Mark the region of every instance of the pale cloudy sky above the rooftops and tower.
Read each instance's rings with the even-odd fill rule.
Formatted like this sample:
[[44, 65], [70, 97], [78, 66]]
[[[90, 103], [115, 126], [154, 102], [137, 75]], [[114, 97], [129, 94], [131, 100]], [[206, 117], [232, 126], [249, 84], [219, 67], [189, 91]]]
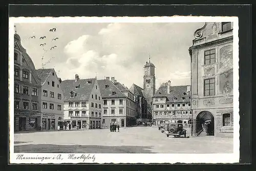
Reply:
[[[49, 23], [15, 24], [22, 46], [36, 69], [54, 68], [62, 80], [115, 79], [130, 88], [143, 88], [143, 66], [156, 66], [156, 88], [161, 82], [173, 86], [190, 84], [190, 57], [194, 32], [204, 23]], [[50, 32], [52, 28], [55, 32]], [[29, 38], [30, 36], [36, 38]], [[46, 36], [44, 39], [39, 39]], [[53, 38], [58, 37], [56, 40]], [[42, 47], [40, 44], [46, 43]], [[51, 47], [57, 46], [50, 50]], [[45, 48], [47, 52], [43, 50]], [[42, 60], [42, 56], [44, 59]], [[97, 74], [96, 74], [97, 73]]]

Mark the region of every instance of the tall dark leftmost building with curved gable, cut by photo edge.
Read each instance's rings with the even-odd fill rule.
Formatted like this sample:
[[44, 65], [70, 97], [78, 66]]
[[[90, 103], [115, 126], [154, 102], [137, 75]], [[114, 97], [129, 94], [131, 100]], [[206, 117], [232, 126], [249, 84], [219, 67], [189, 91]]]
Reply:
[[35, 66], [14, 34], [14, 131], [39, 130], [41, 83]]

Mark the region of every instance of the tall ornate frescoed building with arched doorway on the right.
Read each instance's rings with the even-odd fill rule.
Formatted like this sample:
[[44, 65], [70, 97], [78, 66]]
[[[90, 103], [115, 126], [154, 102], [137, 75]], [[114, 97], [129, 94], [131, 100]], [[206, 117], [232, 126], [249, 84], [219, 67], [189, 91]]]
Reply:
[[193, 135], [232, 137], [232, 23], [205, 23], [194, 36], [189, 48]]

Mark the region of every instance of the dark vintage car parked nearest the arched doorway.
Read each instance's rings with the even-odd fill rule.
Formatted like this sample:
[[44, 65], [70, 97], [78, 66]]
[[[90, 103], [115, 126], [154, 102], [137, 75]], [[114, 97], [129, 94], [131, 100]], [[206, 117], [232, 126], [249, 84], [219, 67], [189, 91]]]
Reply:
[[181, 137], [181, 135], [184, 135], [184, 137], [186, 137], [186, 130], [183, 129], [182, 123], [168, 123], [165, 127], [165, 134], [167, 137], [170, 135], [173, 135], [174, 137]]

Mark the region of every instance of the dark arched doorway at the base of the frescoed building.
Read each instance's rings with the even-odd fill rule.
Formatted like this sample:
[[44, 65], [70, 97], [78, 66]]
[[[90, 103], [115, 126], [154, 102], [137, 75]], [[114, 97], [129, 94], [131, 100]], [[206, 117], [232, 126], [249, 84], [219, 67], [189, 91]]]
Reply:
[[197, 115], [197, 132], [205, 130], [209, 136], [214, 136], [214, 115], [209, 111], [202, 111]]

